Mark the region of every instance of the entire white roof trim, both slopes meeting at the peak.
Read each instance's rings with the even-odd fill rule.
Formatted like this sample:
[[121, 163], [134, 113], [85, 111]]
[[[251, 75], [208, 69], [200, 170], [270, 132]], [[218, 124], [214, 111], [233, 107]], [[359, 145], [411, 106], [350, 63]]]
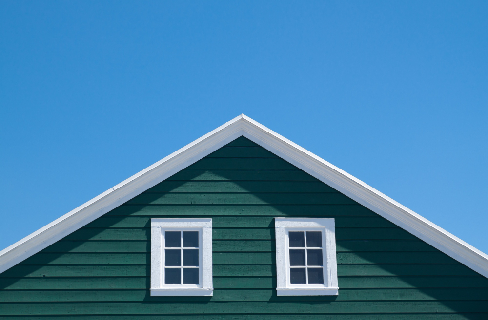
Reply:
[[0, 251], [0, 273], [244, 136], [488, 278], [488, 255], [244, 114]]

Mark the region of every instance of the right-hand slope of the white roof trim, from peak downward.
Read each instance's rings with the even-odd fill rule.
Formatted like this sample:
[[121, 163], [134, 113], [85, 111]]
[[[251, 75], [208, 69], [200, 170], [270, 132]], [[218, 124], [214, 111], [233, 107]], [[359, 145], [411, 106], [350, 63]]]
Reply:
[[349, 173], [244, 116], [244, 136], [488, 278], [488, 255]]

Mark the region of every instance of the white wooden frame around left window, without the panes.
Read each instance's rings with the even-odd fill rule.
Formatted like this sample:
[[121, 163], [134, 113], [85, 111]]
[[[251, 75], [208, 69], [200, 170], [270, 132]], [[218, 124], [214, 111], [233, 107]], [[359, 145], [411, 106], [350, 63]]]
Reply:
[[[198, 231], [199, 283], [164, 284], [164, 232]], [[151, 218], [151, 296], [211, 296], [212, 218]]]

